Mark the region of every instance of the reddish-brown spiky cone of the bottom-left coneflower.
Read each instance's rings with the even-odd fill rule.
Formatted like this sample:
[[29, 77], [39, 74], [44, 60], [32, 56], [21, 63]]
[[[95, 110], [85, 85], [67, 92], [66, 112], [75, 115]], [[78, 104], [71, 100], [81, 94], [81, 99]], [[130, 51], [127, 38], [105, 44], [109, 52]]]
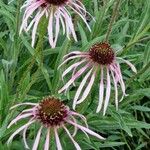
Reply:
[[60, 126], [68, 116], [68, 107], [59, 99], [47, 97], [40, 102], [37, 116], [45, 126]]

